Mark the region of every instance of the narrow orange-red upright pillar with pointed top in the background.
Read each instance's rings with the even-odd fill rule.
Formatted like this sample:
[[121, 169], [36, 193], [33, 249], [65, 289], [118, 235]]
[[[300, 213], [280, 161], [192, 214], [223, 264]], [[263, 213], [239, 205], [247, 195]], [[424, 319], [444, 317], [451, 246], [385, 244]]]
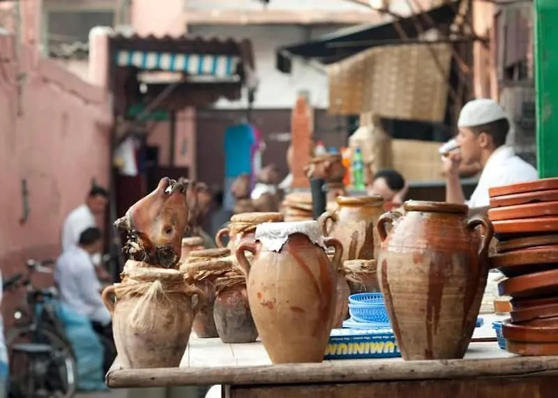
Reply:
[[292, 187], [308, 188], [310, 181], [304, 174], [304, 167], [310, 162], [312, 132], [314, 130], [314, 109], [308, 100], [308, 93], [299, 93], [291, 113], [292, 145]]

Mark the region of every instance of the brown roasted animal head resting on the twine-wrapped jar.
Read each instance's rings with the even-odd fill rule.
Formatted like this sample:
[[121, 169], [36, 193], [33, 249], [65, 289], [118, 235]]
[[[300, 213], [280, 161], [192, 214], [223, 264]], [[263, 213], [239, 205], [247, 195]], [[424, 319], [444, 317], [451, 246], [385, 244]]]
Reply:
[[153, 192], [116, 220], [115, 227], [128, 234], [124, 254], [152, 266], [176, 266], [188, 223], [186, 197], [192, 186], [186, 180], [162, 178]]

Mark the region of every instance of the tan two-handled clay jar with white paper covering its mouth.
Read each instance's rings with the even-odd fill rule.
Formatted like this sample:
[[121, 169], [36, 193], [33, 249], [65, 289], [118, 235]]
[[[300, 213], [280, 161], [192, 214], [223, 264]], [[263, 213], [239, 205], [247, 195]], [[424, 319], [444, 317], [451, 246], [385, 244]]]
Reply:
[[[341, 243], [324, 238], [315, 221], [260, 224], [255, 239], [243, 241], [236, 257], [271, 362], [322, 362], [335, 311]], [[333, 261], [326, 247], [335, 248]], [[251, 266], [245, 251], [255, 254]]]

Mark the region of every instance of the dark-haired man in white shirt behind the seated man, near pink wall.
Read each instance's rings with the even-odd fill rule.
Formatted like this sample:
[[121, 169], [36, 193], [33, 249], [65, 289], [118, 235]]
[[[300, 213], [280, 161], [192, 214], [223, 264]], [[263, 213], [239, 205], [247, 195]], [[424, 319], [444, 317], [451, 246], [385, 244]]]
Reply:
[[62, 229], [62, 251], [77, 246], [80, 235], [88, 228], [97, 227], [95, 217], [103, 215], [107, 208], [109, 194], [103, 187], [92, 187], [85, 203], [75, 208], [64, 221]]

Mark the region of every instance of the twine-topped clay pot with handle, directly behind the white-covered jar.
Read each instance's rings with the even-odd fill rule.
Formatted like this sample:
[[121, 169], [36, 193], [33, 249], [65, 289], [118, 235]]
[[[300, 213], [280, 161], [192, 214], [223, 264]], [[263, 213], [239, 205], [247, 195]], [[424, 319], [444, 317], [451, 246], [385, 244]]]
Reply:
[[218, 247], [225, 247], [223, 244], [223, 236], [229, 236], [229, 244], [227, 248], [234, 251], [243, 239], [253, 239], [256, 232], [257, 224], [262, 222], [281, 222], [283, 220], [282, 213], [239, 213], [231, 217], [228, 228], [220, 229], [216, 236], [215, 242]]

